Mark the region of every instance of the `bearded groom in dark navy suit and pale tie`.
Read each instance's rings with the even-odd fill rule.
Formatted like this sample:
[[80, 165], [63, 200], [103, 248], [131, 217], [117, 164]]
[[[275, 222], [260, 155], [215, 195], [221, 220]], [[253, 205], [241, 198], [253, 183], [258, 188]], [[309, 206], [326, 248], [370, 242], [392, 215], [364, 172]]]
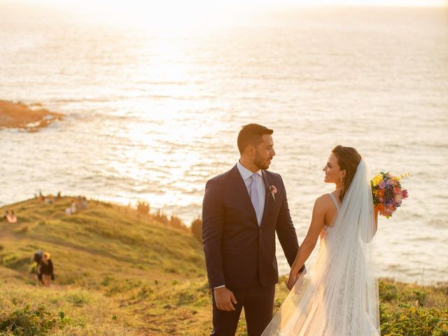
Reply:
[[299, 249], [281, 176], [266, 170], [275, 155], [273, 132], [257, 124], [242, 127], [239, 162], [205, 186], [202, 242], [214, 336], [235, 335], [243, 307], [248, 335], [261, 335], [279, 281], [275, 232], [289, 265]]

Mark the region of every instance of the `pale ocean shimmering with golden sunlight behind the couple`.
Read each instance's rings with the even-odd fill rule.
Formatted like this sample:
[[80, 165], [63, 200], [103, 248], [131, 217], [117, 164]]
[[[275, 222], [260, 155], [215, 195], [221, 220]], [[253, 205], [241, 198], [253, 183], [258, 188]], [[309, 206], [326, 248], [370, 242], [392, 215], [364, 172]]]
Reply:
[[372, 175], [412, 173], [409, 198], [380, 219], [379, 275], [448, 281], [447, 8], [266, 8], [178, 26], [0, 13], [0, 99], [66, 115], [0, 130], [1, 205], [38, 190], [146, 200], [189, 225], [207, 179], [237, 162], [241, 125], [260, 123], [299, 241], [332, 190], [331, 149], [353, 146]]

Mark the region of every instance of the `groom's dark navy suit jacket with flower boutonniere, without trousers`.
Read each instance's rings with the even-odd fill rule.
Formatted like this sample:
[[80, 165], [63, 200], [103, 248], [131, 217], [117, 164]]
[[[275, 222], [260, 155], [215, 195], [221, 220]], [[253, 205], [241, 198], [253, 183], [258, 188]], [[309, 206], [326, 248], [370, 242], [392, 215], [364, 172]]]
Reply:
[[[289, 265], [299, 249], [286, 190], [279, 174], [262, 171], [266, 186], [260, 227], [237, 166], [207, 181], [202, 204], [202, 244], [211, 288], [247, 288], [258, 274], [262, 286], [279, 281], [275, 232]], [[269, 186], [277, 193], [272, 197]]]

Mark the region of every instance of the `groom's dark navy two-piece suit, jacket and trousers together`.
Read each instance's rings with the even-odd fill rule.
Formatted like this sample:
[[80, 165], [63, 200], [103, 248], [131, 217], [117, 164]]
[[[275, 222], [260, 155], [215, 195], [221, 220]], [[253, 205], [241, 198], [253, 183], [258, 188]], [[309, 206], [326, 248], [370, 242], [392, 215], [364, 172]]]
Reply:
[[[260, 226], [237, 166], [207, 181], [202, 207], [202, 243], [211, 288], [225, 285], [238, 304], [221, 311], [214, 301], [211, 335], [235, 335], [244, 307], [248, 334], [260, 335], [272, 318], [274, 285], [279, 281], [275, 232], [289, 265], [299, 249], [283, 180], [262, 171], [265, 208]], [[272, 197], [269, 186], [277, 193]], [[212, 290], [213, 293], [213, 290]]]

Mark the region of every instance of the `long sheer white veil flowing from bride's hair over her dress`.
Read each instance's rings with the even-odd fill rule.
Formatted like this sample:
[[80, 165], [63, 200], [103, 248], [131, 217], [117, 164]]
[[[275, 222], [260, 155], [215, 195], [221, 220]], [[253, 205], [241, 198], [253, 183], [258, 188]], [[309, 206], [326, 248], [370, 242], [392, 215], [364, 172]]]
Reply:
[[262, 336], [380, 335], [375, 232], [370, 177], [361, 160], [315, 265], [295, 283]]

